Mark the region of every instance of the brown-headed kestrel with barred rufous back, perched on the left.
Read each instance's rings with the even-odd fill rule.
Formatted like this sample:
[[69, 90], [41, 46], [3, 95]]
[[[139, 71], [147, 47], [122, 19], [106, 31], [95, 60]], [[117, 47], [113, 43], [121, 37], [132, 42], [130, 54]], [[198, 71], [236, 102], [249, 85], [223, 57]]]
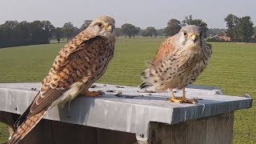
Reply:
[[88, 89], [105, 73], [113, 58], [114, 24], [113, 18], [101, 16], [63, 46], [42, 80], [40, 91], [15, 122], [18, 129], [11, 136], [10, 144], [22, 140], [52, 107], [63, 107], [78, 94], [93, 97], [102, 94]]

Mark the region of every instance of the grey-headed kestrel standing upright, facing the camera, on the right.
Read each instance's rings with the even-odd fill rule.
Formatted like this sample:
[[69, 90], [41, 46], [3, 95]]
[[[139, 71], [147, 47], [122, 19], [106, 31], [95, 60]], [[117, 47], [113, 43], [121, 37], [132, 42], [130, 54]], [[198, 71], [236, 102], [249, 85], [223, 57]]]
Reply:
[[[204, 42], [202, 28], [188, 25], [174, 36], [162, 42], [154, 61], [142, 72], [142, 89], [171, 92], [170, 102], [196, 103], [196, 99], [186, 99], [185, 87], [194, 82], [206, 69], [212, 54], [211, 46]], [[182, 89], [182, 97], [175, 98], [173, 89]]]

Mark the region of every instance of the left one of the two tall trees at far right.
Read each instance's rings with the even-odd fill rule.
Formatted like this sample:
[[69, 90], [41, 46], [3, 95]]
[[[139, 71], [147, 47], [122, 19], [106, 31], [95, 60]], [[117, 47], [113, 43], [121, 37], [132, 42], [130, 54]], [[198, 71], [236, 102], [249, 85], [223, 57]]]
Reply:
[[227, 27], [227, 35], [231, 38], [231, 41], [235, 41], [238, 38], [238, 22], [239, 18], [234, 14], [229, 14], [224, 18]]

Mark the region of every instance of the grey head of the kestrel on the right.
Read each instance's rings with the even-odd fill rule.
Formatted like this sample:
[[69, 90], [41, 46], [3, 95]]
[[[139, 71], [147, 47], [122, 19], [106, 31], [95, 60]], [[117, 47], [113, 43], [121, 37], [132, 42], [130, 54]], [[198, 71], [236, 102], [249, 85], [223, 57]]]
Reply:
[[178, 32], [178, 45], [189, 49], [202, 47], [202, 28], [194, 25], [183, 26]]

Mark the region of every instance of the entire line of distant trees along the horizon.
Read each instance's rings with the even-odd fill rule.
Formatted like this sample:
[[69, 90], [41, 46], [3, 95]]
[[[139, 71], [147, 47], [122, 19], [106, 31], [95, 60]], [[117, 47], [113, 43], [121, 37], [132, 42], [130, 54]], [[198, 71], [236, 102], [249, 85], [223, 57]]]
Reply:
[[[250, 16], [238, 18], [234, 14], [229, 14], [224, 18], [227, 29], [224, 30], [227, 36], [234, 42], [248, 42], [249, 39], [256, 33], [256, 27], [251, 22]], [[50, 21], [34, 21], [34, 22], [18, 22], [6, 21], [0, 25], [0, 48], [10, 46], [24, 46], [34, 44], [47, 44], [51, 39], [56, 39], [58, 42], [61, 38], [66, 38], [69, 41], [75, 35], [85, 30], [90, 25], [92, 20], [85, 20], [79, 28], [74, 26], [72, 22], [66, 22], [62, 27], [55, 27]], [[142, 30], [140, 27], [130, 23], [123, 24], [120, 28], [116, 28], [115, 34], [124, 36], [125, 38], [135, 38], [140, 35], [146, 38], [155, 38], [157, 36], [172, 36], [177, 34], [182, 26], [197, 25], [201, 26], [204, 37], [210, 34], [218, 34], [223, 29], [208, 29], [207, 23], [202, 19], [194, 19], [192, 15], [186, 16], [182, 21], [171, 18], [167, 22], [167, 26], [163, 29], [156, 30], [153, 26]], [[255, 34], [256, 35], [256, 34]]]

